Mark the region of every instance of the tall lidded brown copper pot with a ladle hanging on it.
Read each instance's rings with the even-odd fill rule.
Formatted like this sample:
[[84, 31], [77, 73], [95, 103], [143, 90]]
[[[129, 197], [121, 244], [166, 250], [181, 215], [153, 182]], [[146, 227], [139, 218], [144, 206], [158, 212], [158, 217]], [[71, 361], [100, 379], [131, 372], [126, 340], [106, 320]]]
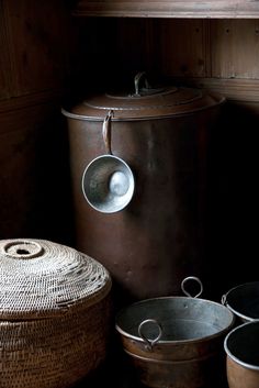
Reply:
[[[93, 96], [63, 109], [77, 248], [110, 270], [123, 301], [174, 295], [188, 274], [203, 275], [207, 142], [224, 102], [199, 89], [140, 88], [142, 76], [133, 93]], [[108, 115], [113, 155], [135, 178], [131, 202], [109, 214], [89, 206], [81, 189], [86, 167], [106, 154]]]

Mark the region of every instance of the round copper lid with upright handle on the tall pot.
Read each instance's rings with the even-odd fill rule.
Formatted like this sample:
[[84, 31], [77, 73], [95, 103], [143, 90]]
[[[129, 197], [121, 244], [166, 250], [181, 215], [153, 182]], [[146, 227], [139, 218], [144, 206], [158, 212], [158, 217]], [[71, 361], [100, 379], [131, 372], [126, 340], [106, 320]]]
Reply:
[[133, 93], [103, 93], [92, 96], [74, 107], [70, 112], [63, 110], [67, 117], [81, 120], [103, 120], [113, 111], [113, 120], [145, 120], [170, 118], [177, 114], [190, 114], [222, 103], [221, 96], [209, 95], [203, 90], [187, 87], [151, 88], [146, 78], [144, 87], [140, 80], [145, 73], [134, 79]]

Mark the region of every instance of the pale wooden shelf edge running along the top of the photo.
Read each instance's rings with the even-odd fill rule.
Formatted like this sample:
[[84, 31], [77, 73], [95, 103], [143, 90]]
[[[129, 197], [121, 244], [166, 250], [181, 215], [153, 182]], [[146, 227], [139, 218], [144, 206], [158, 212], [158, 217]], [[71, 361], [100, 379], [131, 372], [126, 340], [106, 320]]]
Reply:
[[132, 18], [259, 18], [255, 0], [173, 0], [173, 1], [79, 1], [76, 16]]

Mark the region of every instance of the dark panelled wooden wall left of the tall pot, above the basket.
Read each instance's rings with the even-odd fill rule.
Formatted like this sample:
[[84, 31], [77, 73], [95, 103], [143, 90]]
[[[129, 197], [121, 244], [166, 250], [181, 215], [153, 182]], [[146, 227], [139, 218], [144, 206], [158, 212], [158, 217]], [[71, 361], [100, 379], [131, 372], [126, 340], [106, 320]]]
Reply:
[[60, 113], [76, 71], [77, 25], [69, 4], [0, 0], [1, 239], [71, 241], [67, 128]]

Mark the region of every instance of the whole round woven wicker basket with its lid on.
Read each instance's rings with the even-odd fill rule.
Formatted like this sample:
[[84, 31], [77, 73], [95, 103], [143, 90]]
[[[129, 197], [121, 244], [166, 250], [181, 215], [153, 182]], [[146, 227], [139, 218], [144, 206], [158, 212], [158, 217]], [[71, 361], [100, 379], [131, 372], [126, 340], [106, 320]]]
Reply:
[[0, 241], [0, 388], [65, 388], [104, 361], [111, 277], [45, 240]]

